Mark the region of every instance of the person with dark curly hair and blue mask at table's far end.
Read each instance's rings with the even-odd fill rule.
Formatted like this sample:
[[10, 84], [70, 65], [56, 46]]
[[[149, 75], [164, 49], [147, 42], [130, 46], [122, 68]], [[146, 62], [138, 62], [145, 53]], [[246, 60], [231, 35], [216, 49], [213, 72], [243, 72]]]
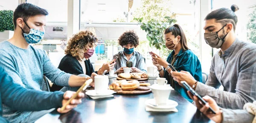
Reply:
[[126, 62], [132, 62], [132, 73], [146, 73], [145, 60], [142, 54], [134, 51], [134, 48], [140, 44], [137, 34], [134, 31], [126, 31], [119, 37], [118, 42], [124, 50], [119, 51], [113, 56], [113, 59], [118, 56], [115, 67], [113, 68], [115, 73], [123, 73], [123, 67], [126, 67]]

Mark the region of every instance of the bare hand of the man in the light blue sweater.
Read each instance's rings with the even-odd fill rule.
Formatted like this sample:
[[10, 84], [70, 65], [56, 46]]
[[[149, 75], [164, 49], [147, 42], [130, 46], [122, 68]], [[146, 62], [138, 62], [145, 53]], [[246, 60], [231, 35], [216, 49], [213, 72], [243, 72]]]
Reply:
[[68, 81], [70, 87], [80, 87], [84, 84], [86, 77], [71, 75]]

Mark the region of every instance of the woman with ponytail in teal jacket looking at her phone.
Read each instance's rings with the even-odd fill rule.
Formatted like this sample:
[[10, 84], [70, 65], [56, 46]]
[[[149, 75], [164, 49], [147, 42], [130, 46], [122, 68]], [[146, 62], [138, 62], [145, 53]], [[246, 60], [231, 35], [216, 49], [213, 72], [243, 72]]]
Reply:
[[[152, 53], [153, 64], [157, 67], [161, 77], [166, 78], [168, 84], [179, 92], [184, 98], [192, 102], [189, 95], [186, 93], [186, 89], [180, 86], [171, 76], [171, 69], [168, 64], [172, 64], [177, 71], [185, 70], [197, 80], [202, 81], [202, 69], [201, 63], [195, 54], [189, 50], [186, 42], [186, 36], [180, 27], [180, 25], [173, 25], [166, 28], [164, 38], [166, 39], [166, 47], [172, 50], [172, 53], [168, 56], [167, 60], [161, 58], [155, 53]], [[162, 69], [162, 66], [164, 69]]]

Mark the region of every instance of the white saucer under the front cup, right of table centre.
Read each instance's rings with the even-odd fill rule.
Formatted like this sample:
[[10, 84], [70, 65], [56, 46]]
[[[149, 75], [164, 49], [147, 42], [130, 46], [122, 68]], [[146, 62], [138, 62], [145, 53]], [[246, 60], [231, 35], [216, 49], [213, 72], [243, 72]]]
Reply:
[[155, 105], [154, 99], [148, 99], [145, 101], [145, 105], [155, 108], [155, 109], [171, 109], [171, 108], [175, 108], [176, 106], [178, 106], [178, 103], [173, 100], [167, 100], [166, 105], [154, 106]]

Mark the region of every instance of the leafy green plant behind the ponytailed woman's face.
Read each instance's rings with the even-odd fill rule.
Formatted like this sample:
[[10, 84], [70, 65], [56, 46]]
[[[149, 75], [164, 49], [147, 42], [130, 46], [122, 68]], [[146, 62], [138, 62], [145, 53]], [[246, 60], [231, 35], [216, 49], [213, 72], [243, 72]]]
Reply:
[[[172, 16], [175, 17], [175, 14], [173, 13]], [[163, 21], [151, 19], [145, 23], [142, 22], [143, 17], [134, 18], [134, 20], [137, 20], [139, 24], [142, 24], [140, 28], [142, 30], [145, 30], [145, 32], [147, 33], [149, 46], [155, 47], [157, 49], [166, 48], [163, 31], [173, 23], [177, 22], [175, 18], [168, 16], [164, 17]]]

